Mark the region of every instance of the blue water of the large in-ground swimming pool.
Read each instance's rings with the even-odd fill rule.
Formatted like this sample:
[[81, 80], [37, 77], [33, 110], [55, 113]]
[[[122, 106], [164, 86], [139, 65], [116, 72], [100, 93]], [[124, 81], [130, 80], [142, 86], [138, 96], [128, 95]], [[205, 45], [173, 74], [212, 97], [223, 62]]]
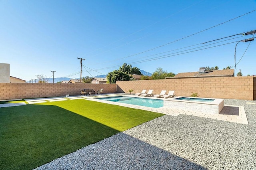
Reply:
[[154, 108], [159, 108], [164, 106], [163, 100], [144, 99], [144, 98], [142, 99], [138, 97], [124, 97], [124, 96], [104, 97], [104, 98], [100, 98], [100, 100], [114, 101], [118, 103], [126, 103], [131, 105], [139, 105], [139, 106], [154, 107]]

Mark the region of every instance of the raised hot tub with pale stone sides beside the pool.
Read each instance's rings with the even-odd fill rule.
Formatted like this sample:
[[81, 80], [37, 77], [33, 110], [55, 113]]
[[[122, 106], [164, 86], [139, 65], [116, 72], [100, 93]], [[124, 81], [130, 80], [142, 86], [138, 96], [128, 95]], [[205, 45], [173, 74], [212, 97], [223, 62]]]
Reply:
[[164, 107], [219, 114], [224, 107], [224, 99], [174, 97], [164, 100]]

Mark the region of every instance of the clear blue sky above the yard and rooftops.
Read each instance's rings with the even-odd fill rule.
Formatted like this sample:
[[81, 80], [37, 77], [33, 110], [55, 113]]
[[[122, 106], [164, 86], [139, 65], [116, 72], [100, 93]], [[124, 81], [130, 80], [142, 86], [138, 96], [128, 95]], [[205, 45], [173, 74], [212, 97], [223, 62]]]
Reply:
[[[123, 63], [150, 73], [234, 68], [236, 42], [253, 35], [232, 35], [256, 30], [253, 10], [256, 0], [0, 0], [0, 63], [26, 81], [51, 78], [51, 70], [54, 77], [78, 78], [78, 57], [85, 59], [82, 77]], [[249, 43], [238, 43], [237, 62]], [[194, 51], [206, 47], [212, 48]], [[256, 75], [256, 40], [236, 68], [235, 75], [240, 69]]]

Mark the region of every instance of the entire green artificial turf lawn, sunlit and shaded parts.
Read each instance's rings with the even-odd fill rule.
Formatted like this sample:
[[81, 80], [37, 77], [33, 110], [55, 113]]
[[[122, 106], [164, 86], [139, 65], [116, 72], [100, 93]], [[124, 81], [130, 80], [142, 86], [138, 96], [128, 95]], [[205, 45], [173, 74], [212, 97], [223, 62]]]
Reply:
[[0, 169], [33, 169], [162, 115], [83, 99], [0, 108]]

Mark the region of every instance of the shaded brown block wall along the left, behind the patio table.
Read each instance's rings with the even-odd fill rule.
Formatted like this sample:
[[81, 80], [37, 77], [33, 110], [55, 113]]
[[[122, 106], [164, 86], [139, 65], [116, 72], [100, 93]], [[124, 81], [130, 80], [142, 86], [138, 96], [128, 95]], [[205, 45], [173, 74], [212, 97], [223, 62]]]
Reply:
[[116, 93], [116, 84], [0, 83], [0, 100], [80, 95], [79, 89]]

